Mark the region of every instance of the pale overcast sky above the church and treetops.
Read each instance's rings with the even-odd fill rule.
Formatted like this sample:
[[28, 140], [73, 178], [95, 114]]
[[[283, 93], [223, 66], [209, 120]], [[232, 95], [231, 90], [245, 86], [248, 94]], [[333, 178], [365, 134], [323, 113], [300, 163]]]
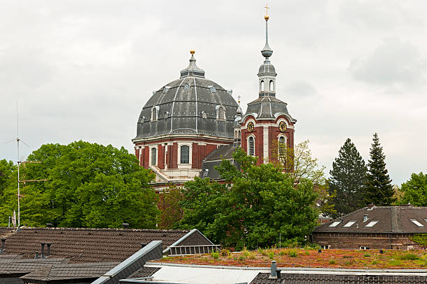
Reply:
[[[133, 152], [153, 90], [179, 78], [189, 50], [206, 77], [257, 97], [264, 1], [0, 0], [0, 159], [20, 137]], [[373, 133], [394, 184], [427, 172], [427, 1], [270, 0], [277, 97], [295, 139], [331, 168], [345, 139], [365, 161]]]

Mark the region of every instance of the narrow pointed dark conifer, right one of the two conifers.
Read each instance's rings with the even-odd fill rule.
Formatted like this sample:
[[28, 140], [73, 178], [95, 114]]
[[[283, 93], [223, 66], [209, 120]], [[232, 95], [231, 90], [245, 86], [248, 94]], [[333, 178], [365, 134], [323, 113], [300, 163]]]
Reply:
[[377, 206], [394, 203], [394, 189], [386, 168], [385, 155], [382, 152], [378, 134], [373, 135], [370, 148], [370, 160], [365, 183], [365, 204]]

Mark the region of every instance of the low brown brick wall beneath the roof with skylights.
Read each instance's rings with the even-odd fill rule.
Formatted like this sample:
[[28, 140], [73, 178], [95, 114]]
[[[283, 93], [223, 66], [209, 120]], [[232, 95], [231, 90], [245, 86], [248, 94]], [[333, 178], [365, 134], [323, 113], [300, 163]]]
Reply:
[[388, 233], [350, 233], [350, 232], [314, 232], [313, 242], [330, 248], [359, 249], [361, 246], [370, 249], [422, 249], [410, 240], [411, 234]]

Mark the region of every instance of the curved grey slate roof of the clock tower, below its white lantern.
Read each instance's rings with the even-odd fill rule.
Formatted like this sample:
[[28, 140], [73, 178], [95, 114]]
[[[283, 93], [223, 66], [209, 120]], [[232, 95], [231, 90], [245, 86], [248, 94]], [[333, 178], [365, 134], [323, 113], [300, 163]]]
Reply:
[[276, 97], [258, 97], [257, 100], [248, 103], [245, 116], [255, 113], [257, 119], [276, 119], [280, 114], [284, 114], [292, 123], [296, 123], [297, 120], [290, 116], [286, 106], [287, 103]]

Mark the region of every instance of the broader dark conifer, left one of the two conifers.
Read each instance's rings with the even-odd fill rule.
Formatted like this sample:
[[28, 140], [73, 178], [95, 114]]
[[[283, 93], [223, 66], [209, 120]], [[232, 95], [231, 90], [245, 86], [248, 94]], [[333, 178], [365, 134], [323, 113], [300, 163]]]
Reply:
[[329, 192], [334, 194], [332, 202], [340, 216], [364, 206], [364, 184], [366, 182], [365, 161], [350, 139], [338, 151], [338, 157], [329, 171]]

